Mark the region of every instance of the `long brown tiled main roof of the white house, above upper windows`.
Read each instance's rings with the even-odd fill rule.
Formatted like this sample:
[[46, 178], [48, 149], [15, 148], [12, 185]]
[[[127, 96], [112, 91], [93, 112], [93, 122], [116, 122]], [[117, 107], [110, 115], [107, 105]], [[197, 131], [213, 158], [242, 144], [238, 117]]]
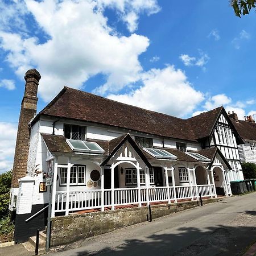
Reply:
[[[71, 118], [122, 127], [161, 137], [196, 141], [210, 135], [221, 110], [222, 107], [196, 117], [181, 119], [65, 86], [46, 108], [38, 114], [37, 118], [40, 115]], [[36, 118], [32, 122], [35, 121]]]

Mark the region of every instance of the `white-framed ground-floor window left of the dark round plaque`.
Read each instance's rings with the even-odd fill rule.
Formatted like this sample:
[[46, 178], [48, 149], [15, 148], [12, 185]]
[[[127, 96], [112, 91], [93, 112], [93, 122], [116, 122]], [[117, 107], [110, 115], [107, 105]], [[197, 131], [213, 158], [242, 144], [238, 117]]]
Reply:
[[[68, 168], [60, 168], [60, 185], [67, 185]], [[85, 166], [72, 166], [70, 185], [85, 185]]]

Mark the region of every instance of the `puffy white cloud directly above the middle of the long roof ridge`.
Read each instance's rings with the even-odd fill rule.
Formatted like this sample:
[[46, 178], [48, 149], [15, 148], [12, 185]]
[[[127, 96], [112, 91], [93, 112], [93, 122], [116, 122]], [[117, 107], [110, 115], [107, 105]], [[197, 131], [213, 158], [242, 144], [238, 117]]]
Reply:
[[151, 69], [142, 76], [143, 85], [131, 93], [108, 98], [177, 117], [185, 117], [203, 100], [203, 93], [195, 90], [184, 72], [168, 66]]

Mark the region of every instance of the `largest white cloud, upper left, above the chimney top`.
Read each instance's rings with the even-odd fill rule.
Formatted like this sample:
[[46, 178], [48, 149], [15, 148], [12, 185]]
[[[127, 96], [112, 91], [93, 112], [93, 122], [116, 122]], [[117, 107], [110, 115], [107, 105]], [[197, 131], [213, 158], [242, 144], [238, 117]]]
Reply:
[[138, 56], [146, 51], [149, 40], [137, 34], [118, 35], [108, 26], [100, 5], [113, 5], [120, 11], [129, 5], [129, 10], [134, 8], [137, 13], [145, 8], [148, 14], [154, 13], [155, 1], [146, 1], [145, 8], [143, 3], [26, 0], [28, 11], [48, 39], [40, 43], [35, 35], [0, 31], [0, 46], [8, 53], [6, 60], [20, 78], [27, 69], [38, 69], [42, 75], [39, 94], [46, 101], [64, 85], [81, 88], [89, 77], [98, 73], [106, 75], [106, 83], [96, 92], [117, 92], [140, 78], [142, 67]]

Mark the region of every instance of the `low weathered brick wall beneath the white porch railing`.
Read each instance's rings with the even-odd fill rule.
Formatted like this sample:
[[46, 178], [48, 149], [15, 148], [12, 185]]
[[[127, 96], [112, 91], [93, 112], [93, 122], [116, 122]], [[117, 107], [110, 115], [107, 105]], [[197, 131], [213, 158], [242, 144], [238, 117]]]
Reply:
[[[204, 204], [218, 199], [203, 200]], [[177, 204], [152, 205], [152, 219], [181, 210], [197, 207], [197, 201]], [[147, 221], [148, 207], [109, 210], [52, 218], [51, 247], [111, 232], [124, 226]]]

